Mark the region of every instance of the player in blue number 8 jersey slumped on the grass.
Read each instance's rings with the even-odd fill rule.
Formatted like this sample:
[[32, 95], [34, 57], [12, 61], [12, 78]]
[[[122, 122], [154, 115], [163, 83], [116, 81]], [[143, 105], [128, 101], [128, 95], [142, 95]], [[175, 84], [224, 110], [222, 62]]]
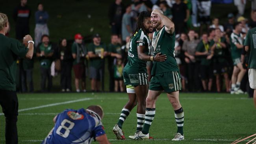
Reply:
[[42, 144], [90, 144], [97, 140], [100, 144], [110, 144], [103, 129], [102, 108], [91, 105], [87, 109], [67, 109], [53, 119], [54, 128]]

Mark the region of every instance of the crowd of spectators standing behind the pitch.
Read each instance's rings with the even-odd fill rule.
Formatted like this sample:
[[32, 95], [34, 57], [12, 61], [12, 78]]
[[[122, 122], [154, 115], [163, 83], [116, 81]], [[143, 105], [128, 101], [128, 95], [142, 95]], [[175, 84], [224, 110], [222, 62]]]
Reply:
[[[245, 0], [238, 1], [245, 4]], [[28, 21], [32, 12], [26, 6], [26, 2], [27, 0], [21, 0], [13, 14], [16, 22], [16, 38], [19, 40], [30, 33]], [[104, 64], [108, 61], [109, 90], [107, 91], [123, 92], [125, 89], [122, 68], [127, 62], [130, 36], [134, 31], [137, 17], [141, 11], [152, 11], [158, 8], [175, 24], [175, 54], [182, 75], [183, 91], [230, 92], [234, 85], [239, 85], [239, 89], [245, 92], [247, 91], [244, 87], [246, 80], [238, 78], [240, 82], [231, 82], [233, 77], [240, 74], [233, 71], [232, 46], [236, 46], [237, 37], [232, 36], [232, 33], [241, 35], [239, 39], [243, 41], [249, 28], [256, 26], [256, 11], [252, 6], [251, 17], [247, 19], [243, 17], [244, 7], [236, 1], [235, 5], [239, 13], [237, 15], [229, 13], [226, 23], [220, 23], [219, 18], [210, 17], [210, 0], [132, 0], [131, 4], [126, 6], [122, 4], [122, 0], [115, 0], [109, 6], [111, 36], [107, 45], [101, 41], [99, 33], [93, 35], [92, 42], [89, 44], [84, 43], [80, 33], [74, 36], [72, 43], [68, 43], [65, 38], [58, 44], [51, 42], [47, 27], [49, 15], [40, 3], [35, 13], [36, 57], [34, 59], [40, 61], [41, 91], [47, 92], [52, 89], [52, 78], [58, 72], [61, 74], [61, 91], [72, 91], [72, 70], [75, 75], [76, 92], [86, 92], [85, 78], [91, 80], [92, 91], [104, 91], [106, 90], [104, 89], [106, 73]], [[203, 28], [204, 25], [206, 29]], [[240, 40], [237, 41], [240, 42]], [[239, 44], [243, 45], [243, 42]], [[246, 53], [243, 52], [241, 55], [243, 67], [237, 71], [243, 71], [246, 74]], [[22, 92], [33, 92], [34, 59], [20, 60]], [[243, 78], [245, 79], [245, 76]], [[240, 84], [243, 81], [246, 81], [245, 84]], [[29, 89], [26, 86], [27, 82]]]

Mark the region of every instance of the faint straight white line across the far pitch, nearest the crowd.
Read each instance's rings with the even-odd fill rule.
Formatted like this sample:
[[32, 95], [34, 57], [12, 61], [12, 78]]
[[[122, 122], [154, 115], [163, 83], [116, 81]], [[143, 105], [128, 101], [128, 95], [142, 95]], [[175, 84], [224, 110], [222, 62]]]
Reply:
[[[80, 98], [19, 98], [19, 100], [76, 100]], [[103, 97], [98, 97], [98, 98], [92, 98], [96, 100], [128, 100], [128, 98], [103, 98]], [[158, 98], [160, 100], [165, 100], [167, 98]], [[180, 97], [180, 99], [184, 100], [251, 100], [250, 98], [195, 98], [195, 97]]]

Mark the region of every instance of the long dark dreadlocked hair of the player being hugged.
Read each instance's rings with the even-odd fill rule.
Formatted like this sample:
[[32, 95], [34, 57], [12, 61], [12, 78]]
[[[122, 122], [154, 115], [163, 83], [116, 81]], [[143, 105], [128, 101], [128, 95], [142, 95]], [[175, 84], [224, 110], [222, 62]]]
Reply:
[[139, 17], [138, 17], [138, 21], [137, 21], [137, 24], [136, 24], [136, 28], [134, 30], [134, 32], [132, 33], [132, 37], [134, 37], [134, 35], [140, 30], [142, 29], [142, 31], [144, 32], [147, 32], [145, 26], [144, 26], [144, 19], [147, 18], [147, 17], [150, 17], [151, 16], [151, 13], [149, 13], [148, 11], [142, 11], [140, 14], [139, 14]]

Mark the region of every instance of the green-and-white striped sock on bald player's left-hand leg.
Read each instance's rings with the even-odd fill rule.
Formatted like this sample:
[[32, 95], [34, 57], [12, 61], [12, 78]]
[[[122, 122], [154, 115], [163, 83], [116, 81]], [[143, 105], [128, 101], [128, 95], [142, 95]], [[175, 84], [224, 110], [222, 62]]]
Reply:
[[149, 128], [152, 124], [155, 114], [156, 114], [156, 108], [146, 108], [145, 122], [144, 122], [143, 129], [142, 129], [142, 133], [144, 135], [148, 134]]

